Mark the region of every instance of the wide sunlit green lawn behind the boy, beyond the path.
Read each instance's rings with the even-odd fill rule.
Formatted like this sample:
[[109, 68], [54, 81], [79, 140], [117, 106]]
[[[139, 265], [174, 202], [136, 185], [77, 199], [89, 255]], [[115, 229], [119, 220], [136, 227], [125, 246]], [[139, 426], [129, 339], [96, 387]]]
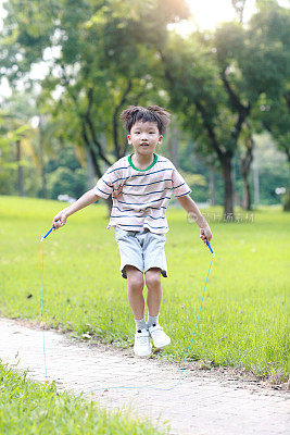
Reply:
[[[64, 203], [0, 197], [0, 313], [41, 321], [40, 236]], [[209, 211], [206, 210], [206, 213]], [[254, 222], [213, 221], [216, 252], [189, 359], [252, 371], [278, 383], [287, 366], [289, 214], [264, 208]], [[160, 321], [172, 338], [162, 358], [182, 360], [198, 315], [211, 256], [182, 209], [169, 209]], [[78, 337], [131, 346], [135, 323], [104, 204], [72, 215], [45, 241], [45, 322]], [[30, 297], [29, 297], [30, 296]], [[88, 335], [87, 335], [88, 334]]]

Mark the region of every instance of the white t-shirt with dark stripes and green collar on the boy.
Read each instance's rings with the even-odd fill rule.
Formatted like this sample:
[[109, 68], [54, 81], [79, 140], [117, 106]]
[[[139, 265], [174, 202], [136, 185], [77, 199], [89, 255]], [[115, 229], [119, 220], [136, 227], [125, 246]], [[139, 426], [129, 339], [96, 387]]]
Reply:
[[146, 170], [137, 169], [131, 156], [125, 156], [109, 167], [98, 181], [94, 192], [101, 198], [112, 195], [113, 208], [108, 229], [123, 229], [164, 234], [169, 231], [165, 216], [172, 194], [182, 197], [191, 192], [175, 165], [154, 153]]

